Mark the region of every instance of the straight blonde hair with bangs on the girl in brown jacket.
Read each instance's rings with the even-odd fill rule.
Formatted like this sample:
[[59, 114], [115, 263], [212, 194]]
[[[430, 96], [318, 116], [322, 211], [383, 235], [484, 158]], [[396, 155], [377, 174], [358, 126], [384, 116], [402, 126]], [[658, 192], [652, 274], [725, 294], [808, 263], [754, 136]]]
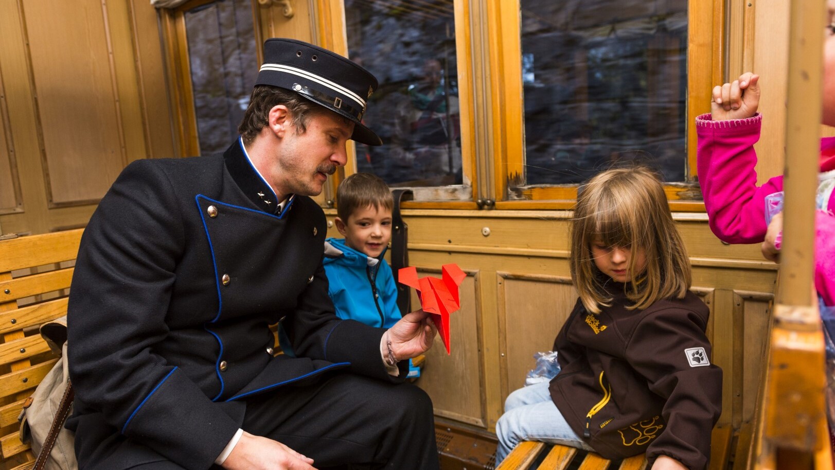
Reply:
[[[646, 167], [608, 169], [580, 188], [571, 229], [571, 277], [586, 310], [600, 313], [612, 297], [605, 275], [597, 269], [591, 244], [631, 250], [627, 267], [632, 282], [626, 292], [645, 309], [660, 299], [684, 298], [691, 286], [691, 267], [684, 242], [670, 214], [664, 187]], [[646, 266], [635, 272], [636, 249], [644, 249]]]

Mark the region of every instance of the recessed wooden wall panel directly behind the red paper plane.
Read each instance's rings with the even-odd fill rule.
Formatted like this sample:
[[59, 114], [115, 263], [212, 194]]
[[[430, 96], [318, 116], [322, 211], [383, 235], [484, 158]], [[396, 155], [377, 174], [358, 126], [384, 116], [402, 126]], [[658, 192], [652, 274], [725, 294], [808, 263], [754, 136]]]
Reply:
[[[418, 275], [440, 277], [438, 270], [419, 270]], [[432, 397], [436, 415], [485, 427], [477, 291], [478, 273], [470, 272], [458, 288], [461, 310], [449, 318], [450, 355], [436, 336], [416, 384]], [[412, 308], [418, 306], [412, 290]]]

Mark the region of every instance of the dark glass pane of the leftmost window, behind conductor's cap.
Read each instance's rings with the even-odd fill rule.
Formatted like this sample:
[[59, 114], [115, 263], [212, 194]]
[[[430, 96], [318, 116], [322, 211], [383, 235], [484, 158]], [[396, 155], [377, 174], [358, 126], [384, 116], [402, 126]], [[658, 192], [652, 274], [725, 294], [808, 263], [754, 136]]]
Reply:
[[258, 58], [250, 0], [219, 0], [185, 13], [200, 154], [225, 151], [250, 104]]

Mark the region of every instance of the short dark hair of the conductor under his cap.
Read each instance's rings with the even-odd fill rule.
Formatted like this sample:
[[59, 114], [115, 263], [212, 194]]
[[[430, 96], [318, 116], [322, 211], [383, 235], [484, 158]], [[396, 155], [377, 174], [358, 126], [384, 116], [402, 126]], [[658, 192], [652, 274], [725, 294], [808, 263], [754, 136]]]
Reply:
[[290, 111], [296, 132], [304, 134], [307, 130], [307, 118], [321, 108], [299, 93], [270, 85], [256, 85], [252, 90], [250, 105], [246, 107], [244, 119], [240, 121], [238, 133], [244, 139], [244, 144], [251, 144], [256, 135], [264, 129], [270, 119], [270, 109], [278, 104], [284, 104]]

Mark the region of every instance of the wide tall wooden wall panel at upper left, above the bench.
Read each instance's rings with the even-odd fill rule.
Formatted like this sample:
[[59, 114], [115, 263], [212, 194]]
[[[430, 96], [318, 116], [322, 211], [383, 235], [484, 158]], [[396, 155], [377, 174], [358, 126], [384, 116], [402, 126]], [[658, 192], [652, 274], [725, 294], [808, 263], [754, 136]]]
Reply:
[[49, 200], [98, 200], [125, 164], [103, 3], [28, 2], [23, 8]]

